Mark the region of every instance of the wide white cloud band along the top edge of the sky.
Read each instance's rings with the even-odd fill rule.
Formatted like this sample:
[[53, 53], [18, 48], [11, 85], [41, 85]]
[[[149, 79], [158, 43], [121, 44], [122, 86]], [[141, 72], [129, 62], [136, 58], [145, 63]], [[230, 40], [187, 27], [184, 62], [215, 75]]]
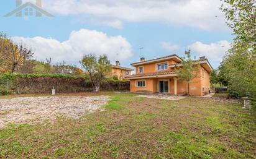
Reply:
[[52, 14], [79, 15], [122, 28], [124, 22], [162, 22], [204, 30], [227, 30], [219, 0], [44, 0]]

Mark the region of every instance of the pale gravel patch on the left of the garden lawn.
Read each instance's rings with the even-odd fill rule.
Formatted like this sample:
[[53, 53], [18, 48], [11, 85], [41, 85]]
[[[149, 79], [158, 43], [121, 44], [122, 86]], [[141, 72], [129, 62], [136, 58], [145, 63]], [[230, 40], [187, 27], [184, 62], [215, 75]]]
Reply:
[[25, 97], [0, 99], [0, 127], [9, 123], [30, 123], [50, 119], [55, 121], [58, 116], [80, 118], [85, 113], [102, 110], [108, 96], [95, 97]]

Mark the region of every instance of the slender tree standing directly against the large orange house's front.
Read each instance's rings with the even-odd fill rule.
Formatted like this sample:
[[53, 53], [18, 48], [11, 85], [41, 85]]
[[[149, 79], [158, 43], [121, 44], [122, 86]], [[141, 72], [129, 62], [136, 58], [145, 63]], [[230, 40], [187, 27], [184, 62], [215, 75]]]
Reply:
[[181, 68], [176, 68], [175, 73], [178, 75], [178, 80], [188, 83], [188, 95], [190, 95], [190, 83], [198, 77], [199, 63], [191, 59], [191, 51], [185, 51], [186, 57], [181, 58]]

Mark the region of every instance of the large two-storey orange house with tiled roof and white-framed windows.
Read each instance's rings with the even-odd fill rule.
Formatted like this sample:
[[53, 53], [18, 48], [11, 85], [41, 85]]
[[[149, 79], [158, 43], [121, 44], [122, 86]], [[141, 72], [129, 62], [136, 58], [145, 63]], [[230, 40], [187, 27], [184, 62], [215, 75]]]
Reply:
[[[194, 62], [199, 63], [198, 77], [190, 83], [190, 95], [201, 96], [209, 93], [209, 74], [213, 67], [208, 59], [201, 57]], [[175, 67], [182, 67], [181, 58], [176, 54], [163, 58], [135, 62], [131, 66], [136, 67], [135, 75], [129, 75], [130, 92], [144, 93], [168, 93], [173, 95], [185, 95], [188, 93], [188, 83], [178, 80]]]

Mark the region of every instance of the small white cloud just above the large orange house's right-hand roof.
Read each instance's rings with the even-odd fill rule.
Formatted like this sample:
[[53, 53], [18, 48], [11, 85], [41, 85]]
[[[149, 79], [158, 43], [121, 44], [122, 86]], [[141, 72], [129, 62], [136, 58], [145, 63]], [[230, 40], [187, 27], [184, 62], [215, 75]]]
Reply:
[[218, 41], [216, 43], [205, 44], [200, 41], [196, 41], [192, 45], [188, 46], [191, 49], [192, 54], [197, 56], [206, 56], [209, 61], [219, 64], [222, 61], [226, 51], [230, 48], [231, 43], [226, 40]]

